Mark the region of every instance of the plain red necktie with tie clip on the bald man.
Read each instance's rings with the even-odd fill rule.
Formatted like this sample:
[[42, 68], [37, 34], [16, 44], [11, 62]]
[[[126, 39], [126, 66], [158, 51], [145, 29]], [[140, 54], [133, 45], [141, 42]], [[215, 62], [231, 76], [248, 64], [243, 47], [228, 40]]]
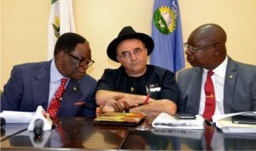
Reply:
[[205, 92], [206, 92], [206, 103], [205, 103], [205, 110], [203, 113], [203, 117], [207, 120], [212, 120], [212, 115], [214, 115], [215, 111], [215, 92], [212, 83], [211, 76], [214, 73], [212, 70], [209, 70], [207, 73], [207, 81], [205, 84]]

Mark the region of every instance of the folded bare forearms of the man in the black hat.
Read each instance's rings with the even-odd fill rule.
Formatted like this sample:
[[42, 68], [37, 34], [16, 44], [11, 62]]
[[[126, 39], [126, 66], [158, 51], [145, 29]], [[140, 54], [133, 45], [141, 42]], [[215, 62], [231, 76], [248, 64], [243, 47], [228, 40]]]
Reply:
[[147, 96], [134, 95], [124, 92], [111, 92], [105, 90], [99, 90], [96, 92], [96, 103], [102, 106], [102, 113], [107, 112], [119, 112], [129, 109], [131, 113], [143, 112], [148, 117], [154, 117], [161, 112], [165, 112], [169, 115], [174, 115], [177, 110], [176, 103], [172, 100], [160, 99], [155, 100], [149, 98], [147, 104], [145, 99]]

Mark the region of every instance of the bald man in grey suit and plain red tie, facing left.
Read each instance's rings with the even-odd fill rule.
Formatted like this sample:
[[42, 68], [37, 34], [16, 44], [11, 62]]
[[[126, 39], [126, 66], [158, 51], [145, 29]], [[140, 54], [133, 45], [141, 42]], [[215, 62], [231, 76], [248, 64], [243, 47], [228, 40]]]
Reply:
[[213, 115], [256, 110], [256, 66], [231, 59], [226, 52], [226, 39], [222, 27], [207, 24], [192, 31], [188, 42], [184, 43], [187, 60], [194, 67], [177, 75], [179, 112], [203, 115], [208, 70], [214, 73]]

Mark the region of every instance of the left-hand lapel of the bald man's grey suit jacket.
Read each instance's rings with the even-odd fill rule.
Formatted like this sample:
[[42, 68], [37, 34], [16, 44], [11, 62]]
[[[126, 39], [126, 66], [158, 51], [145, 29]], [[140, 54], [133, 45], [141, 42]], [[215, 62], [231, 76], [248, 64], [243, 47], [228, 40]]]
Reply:
[[201, 76], [202, 69], [195, 68], [193, 72], [191, 72], [191, 84], [188, 89], [188, 94], [191, 94], [188, 98], [188, 104], [186, 110], [189, 110], [190, 113], [197, 115], [199, 111], [200, 105], [200, 97], [201, 97]]

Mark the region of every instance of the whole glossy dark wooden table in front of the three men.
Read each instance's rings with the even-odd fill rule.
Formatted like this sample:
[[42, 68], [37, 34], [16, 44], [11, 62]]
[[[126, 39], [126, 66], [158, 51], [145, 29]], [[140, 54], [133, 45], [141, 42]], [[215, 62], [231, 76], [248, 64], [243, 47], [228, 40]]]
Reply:
[[[152, 120], [139, 126], [101, 126], [93, 119], [63, 117], [55, 121], [52, 131], [34, 137], [32, 131], [20, 131], [1, 141], [1, 150], [205, 150], [203, 130], [154, 129]], [[57, 125], [61, 125], [57, 127]], [[6, 127], [9, 127], [6, 125]], [[211, 147], [214, 150], [255, 150], [255, 134], [224, 134], [214, 131]]]

